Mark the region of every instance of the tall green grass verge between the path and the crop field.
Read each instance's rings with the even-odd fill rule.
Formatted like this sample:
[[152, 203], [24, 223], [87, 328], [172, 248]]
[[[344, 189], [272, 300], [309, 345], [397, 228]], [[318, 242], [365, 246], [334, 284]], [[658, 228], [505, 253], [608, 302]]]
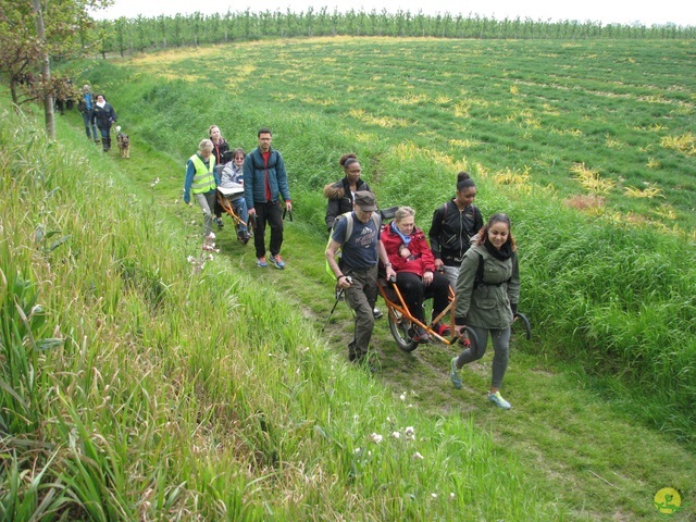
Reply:
[[[358, 46], [358, 52], [364, 51], [361, 44], [350, 42], [344, 49], [335, 42], [326, 45], [332, 52], [344, 53], [341, 71], [356, 59], [351, 53], [353, 45]], [[249, 52], [256, 53], [263, 46], [251, 46]], [[316, 50], [320, 44], [308, 42], [307, 46]], [[384, 49], [380, 47], [378, 51], [381, 55], [387, 57], [387, 61], [378, 61], [374, 65], [375, 71], [381, 66], [385, 67], [385, 73], [390, 71], [388, 61], [394, 46], [407, 47], [406, 52], [409, 53], [415, 52], [403, 42], [384, 42]], [[299, 48], [298, 52], [302, 52], [302, 46], [295, 47]], [[511, 52], [509, 45], [502, 47], [506, 53]], [[504, 59], [490, 49], [493, 48], [488, 46], [488, 60], [500, 60], [502, 63]], [[646, 49], [646, 53], [651, 52], [652, 50]], [[258, 57], [261, 60], [261, 54]], [[554, 62], [556, 58], [552, 57]], [[281, 66], [282, 62], [276, 61], [275, 57], [270, 60], [274, 66]], [[417, 55], [413, 61], [427, 63], [426, 59]], [[315, 61], [312, 63], [316, 64]], [[167, 65], [162, 62], [157, 66], [167, 70]], [[176, 70], [177, 66], [169, 65], [169, 70]], [[327, 77], [324, 65], [314, 66], [322, 71], [322, 78]], [[219, 64], [219, 72], [211, 74], [223, 74], [224, 66]], [[304, 64], [301, 60], [293, 64], [294, 70], [302, 67]], [[357, 73], [359, 70], [350, 71]], [[488, 111], [489, 117], [477, 113], [480, 117], [471, 121], [472, 129], [465, 136], [471, 136], [473, 142], [495, 142], [496, 148], [492, 149], [493, 156], [488, 156], [482, 148], [462, 156], [459, 144], [452, 148], [434, 130], [432, 125], [435, 123], [421, 121], [414, 115], [423, 103], [414, 104], [413, 109], [408, 103], [399, 103], [396, 112], [400, 117], [418, 121], [418, 124], [403, 129], [389, 127], [388, 123], [385, 124], [386, 120], [375, 121], [382, 116], [383, 111], [389, 109], [381, 104], [369, 110], [370, 104], [364, 97], [353, 98], [351, 92], [358, 90], [369, 95], [375, 82], [378, 82], [372, 75], [376, 72], [364, 74], [361, 71], [363, 79], [350, 76], [355, 85], [345, 88], [349, 99], [337, 102], [335, 107], [340, 117], [325, 113], [324, 105], [289, 99], [289, 91], [279, 87], [271, 89], [269, 84], [277, 86], [277, 82], [272, 79], [268, 83], [260, 82], [262, 85], [259, 90], [247, 87], [248, 92], [227, 95], [222, 88], [212, 89], [210, 85], [201, 86], [183, 80], [137, 80], [141, 74], [125, 66], [90, 64], [89, 70], [89, 76], [111, 86], [124, 105], [137, 108], [137, 113], [126, 112], [133, 125], [142, 129], [146, 138], [152, 140], [156, 147], [182, 162], [190, 153], [190, 136], [200, 135], [201, 129], [207, 128], [211, 122], [231, 129], [227, 138], [248, 149], [254, 146], [258, 126], [270, 125], [274, 129], [275, 139], [282, 144], [279, 147], [286, 163], [291, 165], [290, 186], [297, 213], [301, 219], [316, 223], [318, 235], [323, 234], [321, 215], [324, 201], [316, 194], [324, 183], [336, 177], [336, 162], [344, 151], [359, 153], [365, 176], [383, 206], [408, 203], [414, 207], [419, 211], [419, 224], [426, 228], [435, 208], [434, 202], [444, 200], [450, 194], [447, 187], [453, 185], [451, 176], [459, 170], [470, 170], [478, 183], [478, 204], [484, 214], [505, 210], [512, 216], [514, 233], [521, 245], [524, 276], [522, 308], [532, 316], [537, 332], [544, 338], [544, 349], [562, 358], [581, 361], [595, 375], [627, 384], [629, 389], [633, 389], [637, 397], [649, 394], [656, 400], [655, 407], [644, 410], [649, 421], [659, 427], [673, 430], [683, 440], [693, 439], [691, 410], [696, 398], [696, 387], [692, 376], [696, 359], [692, 339], [696, 282], [692, 235], [679, 231], [673, 233], [657, 220], [643, 220], [647, 223], [646, 226], [633, 224], [633, 221], [641, 223], [641, 220], [633, 219], [639, 215], [633, 210], [635, 207], [626, 207], [626, 211], [622, 212], [622, 201], [625, 203], [630, 199], [625, 196], [619, 196], [613, 208], [599, 208], [596, 213], [584, 214], [567, 207], [567, 201], [572, 200], [559, 198], [554, 186], [542, 188], [542, 184], [536, 183], [536, 179], [546, 183], [552, 179], [555, 185], [564, 187], [561, 194], [566, 196], [571, 191], [566, 177], [575, 184], [584, 182], [573, 172], [561, 172], [559, 176], [548, 167], [546, 173], [544, 165], [554, 164], [559, 158], [570, 159], [566, 158], [567, 153], [576, 158], [579, 163], [584, 158], [594, 158], [593, 154], [598, 154], [598, 162], [611, 163], [602, 158], [599, 153], [601, 151], [596, 150], [596, 147], [588, 142], [581, 146], [584, 140], [579, 139], [573, 141], [577, 148], [569, 148], [567, 134], [555, 136], [551, 133], [549, 137], [544, 129], [524, 128], [529, 125], [524, 123], [527, 117], [524, 111], [519, 113], [523, 122], [522, 128], [518, 119], [506, 125], [498, 124], [493, 121], [494, 117], [502, 117], [506, 112], [502, 111], [497, 116], [494, 111], [499, 110], [502, 102], [480, 97], [474, 100], [478, 108], [476, 111]], [[123, 85], [125, 78], [133, 82]], [[304, 77], [308, 88], [322, 85], [313, 76], [310, 78], [311, 80]], [[433, 76], [428, 78], [432, 79]], [[389, 89], [398, 92], [396, 82], [384, 85], [385, 92], [390, 91]], [[269, 92], [260, 94], [264, 88], [270, 89]], [[499, 87], [494, 86], [494, 89]], [[548, 96], [547, 88], [543, 89]], [[257, 103], [264, 96], [266, 102]], [[431, 94], [431, 99], [434, 96]], [[564, 107], [586, 107], [585, 97], [589, 96], [587, 90], [581, 90], [577, 96], [579, 100], [564, 100]], [[200, 109], [200, 100], [209, 97], [214, 97], [216, 103], [210, 109]], [[313, 100], [318, 98], [323, 99], [315, 95]], [[402, 94], [397, 99], [408, 98]], [[350, 112], [352, 102], [364, 104], [364, 114], [373, 120], [356, 124]], [[616, 105], [616, 102], [612, 103]], [[172, 107], [176, 110], [167, 109]], [[661, 113], [663, 108], [655, 110]], [[580, 112], [575, 113], [577, 117]], [[166, 127], [161, 125], [163, 113], [166, 113]], [[641, 120], [642, 113], [638, 112], [635, 117]], [[688, 114], [685, 117], [687, 121]], [[631, 127], [627, 113], [622, 116], [622, 121], [626, 128]], [[572, 122], [564, 125], [573, 127]], [[601, 136], [602, 144], [606, 144], [608, 134], [623, 133], [611, 126], [608, 120], [601, 123], [585, 122], [583, 125], [585, 133]], [[461, 128], [465, 130], [469, 127], [458, 127]], [[495, 129], [495, 134], [488, 128]], [[414, 129], [418, 134], [414, 134]], [[637, 139], [636, 135], [631, 139]], [[612, 151], [605, 150], [602, 153], [608, 156]], [[532, 160], [533, 166], [527, 164], [524, 169], [518, 166], [505, 170], [489, 167], [490, 162], [502, 160], [513, 164], [522, 161], [526, 164], [527, 160]], [[684, 159], [680, 157], [679, 161], [682, 160]], [[666, 173], [660, 175], [664, 176]], [[173, 186], [178, 186], [181, 177], [174, 176]], [[597, 191], [592, 194], [596, 196]], [[676, 191], [674, 194], [676, 198]], [[671, 194], [669, 197], [672, 200]], [[592, 201], [600, 200], [596, 196]], [[644, 208], [644, 212], [648, 211]]]

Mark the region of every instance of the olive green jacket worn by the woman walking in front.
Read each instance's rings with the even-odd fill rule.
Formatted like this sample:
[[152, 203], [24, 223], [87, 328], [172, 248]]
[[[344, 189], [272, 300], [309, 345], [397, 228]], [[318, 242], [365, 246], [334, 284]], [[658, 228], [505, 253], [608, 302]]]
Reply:
[[[476, 282], [483, 262], [483, 281]], [[457, 278], [457, 324], [505, 330], [512, 324], [512, 310], [520, 300], [518, 252], [505, 261], [494, 258], [483, 245], [472, 246], [461, 262]], [[463, 321], [462, 321], [463, 320]]]

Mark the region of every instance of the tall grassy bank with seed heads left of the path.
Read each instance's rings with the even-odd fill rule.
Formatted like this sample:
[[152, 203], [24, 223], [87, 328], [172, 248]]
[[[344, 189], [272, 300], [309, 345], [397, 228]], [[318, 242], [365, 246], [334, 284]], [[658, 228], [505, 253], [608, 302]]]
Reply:
[[0, 519], [563, 517], [488, 435], [393, 399], [272, 289], [223, 259], [192, 271], [181, 225], [80, 132], [0, 122]]

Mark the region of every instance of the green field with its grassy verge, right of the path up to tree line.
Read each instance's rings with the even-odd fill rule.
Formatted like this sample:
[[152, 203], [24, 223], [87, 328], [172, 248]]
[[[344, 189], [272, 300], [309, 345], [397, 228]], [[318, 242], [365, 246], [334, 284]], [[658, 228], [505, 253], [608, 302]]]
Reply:
[[[542, 343], [531, 349], [580, 361], [637, 397], [638, 417], [689, 440], [693, 46], [275, 41], [145, 55], [135, 69], [91, 63], [85, 77], [178, 162], [211, 122], [247, 148], [260, 122], [271, 125], [291, 165], [295, 213], [320, 237], [321, 187], [347, 150], [378, 200], [415, 208], [424, 228], [453, 174], [470, 170], [484, 214], [502, 209], [515, 223], [522, 302]], [[181, 184], [172, 177], [162, 189]]]

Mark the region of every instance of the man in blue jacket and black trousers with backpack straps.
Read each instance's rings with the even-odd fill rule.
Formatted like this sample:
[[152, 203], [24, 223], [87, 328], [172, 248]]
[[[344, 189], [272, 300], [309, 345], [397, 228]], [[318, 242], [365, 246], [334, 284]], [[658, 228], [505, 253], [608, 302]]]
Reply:
[[[272, 134], [268, 127], [259, 129], [257, 137], [259, 147], [244, 159], [244, 199], [247, 201], [249, 219], [254, 223], [253, 246], [257, 254], [257, 266], [265, 269], [265, 226], [271, 227], [269, 261], [276, 269], [285, 269], [281, 258], [283, 246], [283, 213], [293, 211], [293, 200], [287, 186], [287, 173], [281, 152], [271, 147]], [[281, 201], [283, 198], [283, 201]]]

